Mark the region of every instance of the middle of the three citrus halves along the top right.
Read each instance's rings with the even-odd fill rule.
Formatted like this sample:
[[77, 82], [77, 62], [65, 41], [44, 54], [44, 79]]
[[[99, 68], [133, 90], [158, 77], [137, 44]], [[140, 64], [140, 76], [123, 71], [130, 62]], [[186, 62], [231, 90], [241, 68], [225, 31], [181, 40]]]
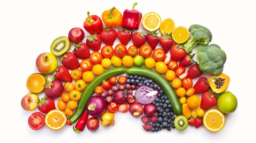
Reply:
[[160, 24], [159, 30], [162, 35], [171, 34], [175, 28], [175, 22], [171, 18], [166, 18]]

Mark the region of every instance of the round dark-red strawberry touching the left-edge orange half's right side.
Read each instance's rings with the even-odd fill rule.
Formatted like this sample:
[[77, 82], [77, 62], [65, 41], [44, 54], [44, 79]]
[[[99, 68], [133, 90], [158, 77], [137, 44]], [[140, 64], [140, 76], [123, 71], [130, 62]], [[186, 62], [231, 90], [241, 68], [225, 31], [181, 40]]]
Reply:
[[60, 97], [64, 90], [62, 82], [58, 79], [54, 79], [54, 77], [51, 77], [50, 81], [46, 78], [46, 84], [44, 87], [45, 95], [52, 99]]

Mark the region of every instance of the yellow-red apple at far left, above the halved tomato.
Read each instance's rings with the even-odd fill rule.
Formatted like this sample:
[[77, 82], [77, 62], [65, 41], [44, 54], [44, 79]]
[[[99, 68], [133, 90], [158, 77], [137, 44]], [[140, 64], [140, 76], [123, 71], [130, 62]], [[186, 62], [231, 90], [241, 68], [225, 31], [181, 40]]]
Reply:
[[26, 111], [33, 111], [38, 107], [39, 97], [33, 93], [24, 95], [21, 99], [21, 107]]

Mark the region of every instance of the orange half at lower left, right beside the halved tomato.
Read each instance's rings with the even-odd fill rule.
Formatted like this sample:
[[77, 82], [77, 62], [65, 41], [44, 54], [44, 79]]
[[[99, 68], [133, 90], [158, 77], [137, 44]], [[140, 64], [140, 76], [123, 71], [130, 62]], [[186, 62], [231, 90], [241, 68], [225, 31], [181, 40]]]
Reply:
[[51, 110], [45, 116], [45, 125], [52, 130], [60, 130], [66, 123], [67, 117], [61, 110]]

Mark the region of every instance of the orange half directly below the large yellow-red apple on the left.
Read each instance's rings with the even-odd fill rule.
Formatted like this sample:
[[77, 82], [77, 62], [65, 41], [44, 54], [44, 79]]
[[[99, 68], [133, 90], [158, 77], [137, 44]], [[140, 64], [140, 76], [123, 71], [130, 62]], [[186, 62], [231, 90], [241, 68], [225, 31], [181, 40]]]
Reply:
[[46, 79], [43, 74], [33, 73], [27, 78], [27, 89], [33, 93], [40, 93], [45, 89], [43, 86], [45, 82]]

